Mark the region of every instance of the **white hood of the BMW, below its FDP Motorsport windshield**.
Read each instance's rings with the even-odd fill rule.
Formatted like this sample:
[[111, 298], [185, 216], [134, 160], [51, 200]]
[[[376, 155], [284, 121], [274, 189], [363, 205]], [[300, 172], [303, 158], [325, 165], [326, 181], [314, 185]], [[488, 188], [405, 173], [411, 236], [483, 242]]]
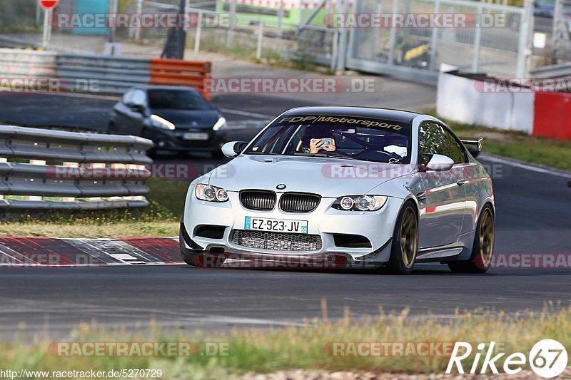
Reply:
[[[410, 165], [337, 158], [241, 155], [213, 170], [209, 183], [229, 191], [313, 192], [323, 197], [366, 194], [386, 181], [410, 174]], [[370, 173], [370, 175], [363, 175]]]

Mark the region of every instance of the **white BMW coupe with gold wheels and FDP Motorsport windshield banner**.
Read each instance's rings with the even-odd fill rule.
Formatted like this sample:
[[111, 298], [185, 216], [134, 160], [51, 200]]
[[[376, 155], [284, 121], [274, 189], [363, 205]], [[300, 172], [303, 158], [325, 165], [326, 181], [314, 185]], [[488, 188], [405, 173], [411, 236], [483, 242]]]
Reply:
[[474, 158], [480, 145], [430, 115], [294, 108], [251, 142], [224, 145], [233, 160], [193, 180], [183, 260], [321, 262], [395, 274], [440, 262], [485, 272], [495, 206], [490, 176]]

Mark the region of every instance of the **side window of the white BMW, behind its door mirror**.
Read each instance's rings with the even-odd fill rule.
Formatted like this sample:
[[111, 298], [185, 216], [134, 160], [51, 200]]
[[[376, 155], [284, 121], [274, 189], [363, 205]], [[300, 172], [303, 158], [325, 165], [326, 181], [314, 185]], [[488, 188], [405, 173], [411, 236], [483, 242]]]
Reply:
[[442, 125], [423, 123], [420, 125], [418, 137], [419, 163], [421, 165], [426, 165], [433, 154], [450, 157], [455, 164], [466, 162], [463, 146]]

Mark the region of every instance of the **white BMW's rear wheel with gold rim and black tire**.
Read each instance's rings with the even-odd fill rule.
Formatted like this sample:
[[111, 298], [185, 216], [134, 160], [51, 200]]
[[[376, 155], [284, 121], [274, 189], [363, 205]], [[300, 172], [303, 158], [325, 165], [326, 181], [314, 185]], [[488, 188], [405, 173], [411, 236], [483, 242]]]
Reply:
[[[482, 222], [485, 223], [482, 228]], [[491, 222], [490, 225], [487, 225]], [[490, 235], [491, 231], [491, 235]], [[492, 255], [494, 254], [495, 219], [492, 206], [486, 204], [480, 212], [477, 220], [474, 244], [470, 260], [454, 261], [448, 263], [448, 268], [456, 273], [484, 273], [492, 265]]]

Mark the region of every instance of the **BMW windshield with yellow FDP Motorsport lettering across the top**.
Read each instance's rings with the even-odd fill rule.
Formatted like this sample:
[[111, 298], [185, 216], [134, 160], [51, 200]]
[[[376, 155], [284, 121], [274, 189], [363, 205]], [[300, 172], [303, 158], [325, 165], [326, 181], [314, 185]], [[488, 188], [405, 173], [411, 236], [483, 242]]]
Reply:
[[410, 130], [410, 123], [361, 116], [284, 116], [258, 135], [244, 154], [406, 164], [410, 163]]

